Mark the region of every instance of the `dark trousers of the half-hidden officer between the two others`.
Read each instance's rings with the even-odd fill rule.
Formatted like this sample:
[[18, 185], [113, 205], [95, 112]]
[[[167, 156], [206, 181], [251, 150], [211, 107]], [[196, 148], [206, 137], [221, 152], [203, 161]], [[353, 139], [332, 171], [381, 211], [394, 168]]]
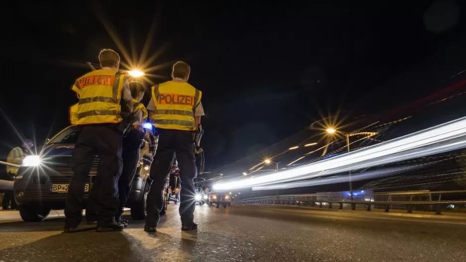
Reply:
[[[130, 196], [132, 182], [136, 174], [136, 169], [139, 161], [139, 153], [141, 151], [141, 143], [144, 138], [144, 132], [140, 132], [135, 129], [123, 137], [123, 169], [121, 172], [120, 179], [118, 180], [118, 198], [120, 204], [118, 209], [115, 212], [115, 220], [120, 221], [121, 215], [123, 214], [123, 208], [125, 207], [126, 202]], [[97, 208], [98, 201], [100, 196], [101, 182], [97, 177], [92, 186], [92, 191], [89, 196], [86, 209], [86, 220], [87, 221], [96, 221], [98, 219]]]

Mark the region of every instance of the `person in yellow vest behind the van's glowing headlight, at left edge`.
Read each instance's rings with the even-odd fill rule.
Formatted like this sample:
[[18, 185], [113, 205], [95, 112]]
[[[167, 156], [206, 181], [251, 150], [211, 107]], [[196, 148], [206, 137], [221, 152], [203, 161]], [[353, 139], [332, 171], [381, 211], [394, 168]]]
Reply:
[[[34, 142], [30, 139], [24, 139], [22, 147], [16, 146], [8, 153], [6, 162], [16, 165], [21, 165], [23, 158], [31, 151], [34, 146]], [[12, 181], [14, 176], [18, 174], [18, 168], [12, 166], [6, 166], [6, 177], [5, 180]], [[16, 201], [14, 200], [13, 191], [5, 192], [1, 201], [3, 210], [16, 209]]]

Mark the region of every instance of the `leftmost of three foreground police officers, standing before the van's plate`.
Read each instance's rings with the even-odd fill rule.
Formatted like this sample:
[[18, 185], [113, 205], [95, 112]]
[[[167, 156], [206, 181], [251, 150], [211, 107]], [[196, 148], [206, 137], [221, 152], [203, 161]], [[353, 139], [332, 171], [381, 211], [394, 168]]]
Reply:
[[[72, 86], [79, 97], [76, 118], [72, 120], [81, 131], [71, 158], [74, 175], [68, 188], [64, 229], [68, 233], [76, 232], [82, 219], [84, 186], [95, 155], [100, 160], [97, 176], [101, 183], [96, 231], [124, 228], [115, 222], [114, 215], [120, 204], [117, 185], [122, 169], [122, 111], [131, 114], [132, 97], [125, 74], [118, 71], [118, 53], [103, 49], [99, 62], [102, 69], [86, 73]], [[122, 98], [124, 103], [120, 103]]]

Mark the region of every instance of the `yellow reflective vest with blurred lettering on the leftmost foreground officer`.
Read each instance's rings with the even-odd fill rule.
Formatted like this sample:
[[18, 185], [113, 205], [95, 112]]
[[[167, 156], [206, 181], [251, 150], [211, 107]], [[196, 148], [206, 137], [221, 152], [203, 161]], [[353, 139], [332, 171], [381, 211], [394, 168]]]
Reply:
[[124, 74], [108, 69], [91, 71], [79, 77], [71, 88], [78, 94], [79, 102], [77, 107], [73, 105], [70, 108], [70, 122], [73, 125], [120, 123], [124, 79]]

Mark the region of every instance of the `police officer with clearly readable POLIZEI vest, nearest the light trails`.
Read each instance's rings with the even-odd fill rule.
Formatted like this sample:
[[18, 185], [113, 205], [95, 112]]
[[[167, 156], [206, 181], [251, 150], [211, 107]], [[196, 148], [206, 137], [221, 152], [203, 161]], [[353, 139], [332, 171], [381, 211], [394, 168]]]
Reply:
[[188, 64], [177, 62], [172, 68], [172, 80], [152, 88], [148, 110], [151, 111], [151, 122], [159, 132], [159, 137], [150, 171], [153, 183], [146, 201], [144, 230], [147, 232], [156, 231], [163, 200], [163, 182], [170, 173], [175, 154], [181, 180], [181, 230], [197, 229], [193, 216], [196, 205], [193, 132], [200, 124], [204, 110], [201, 104], [202, 92], [187, 82], [190, 72]]

